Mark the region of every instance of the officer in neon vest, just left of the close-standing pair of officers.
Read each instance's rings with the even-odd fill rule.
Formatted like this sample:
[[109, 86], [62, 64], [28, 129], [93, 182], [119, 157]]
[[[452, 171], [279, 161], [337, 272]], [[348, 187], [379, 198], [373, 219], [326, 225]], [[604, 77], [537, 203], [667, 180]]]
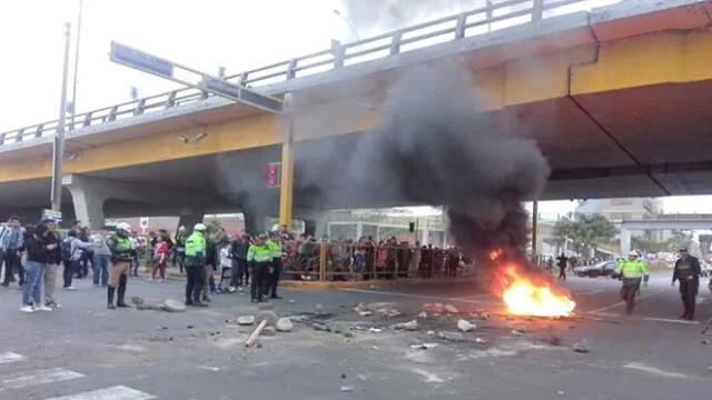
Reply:
[[200, 301], [200, 293], [205, 286], [205, 257], [207, 251], [207, 227], [196, 223], [192, 233], [186, 240], [186, 258], [184, 266], [188, 280], [186, 282], [186, 306], [208, 307]]

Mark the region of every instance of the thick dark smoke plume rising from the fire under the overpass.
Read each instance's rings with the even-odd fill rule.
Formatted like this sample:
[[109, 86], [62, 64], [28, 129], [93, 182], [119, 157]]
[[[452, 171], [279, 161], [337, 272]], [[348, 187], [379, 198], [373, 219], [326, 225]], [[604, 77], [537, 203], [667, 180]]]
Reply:
[[[389, 91], [384, 120], [352, 159], [363, 193], [442, 204], [458, 247], [523, 249], [527, 212], [550, 168], [536, 143], [478, 112], [486, 99], [458, 67], [414, 71]], [[506, 124], [505, 124], [506, 126]]]

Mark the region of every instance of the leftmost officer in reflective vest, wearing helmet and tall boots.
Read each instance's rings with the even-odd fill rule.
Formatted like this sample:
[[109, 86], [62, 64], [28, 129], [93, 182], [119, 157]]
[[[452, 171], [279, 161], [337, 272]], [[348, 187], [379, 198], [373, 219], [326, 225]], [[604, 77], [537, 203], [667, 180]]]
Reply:
[[[121, 222], [116, 227], [116, 234], [107, 239], [107, 247], [111, 251], [111, 274], [109, 287], [107, 288], [107, 307], [129, 307], [123, 299], [126, 297], [126, 283], [128, 273], [131, 270], [131, 262], [136, 257], [136, 249], [129, 240], [131, 226]], [[116, 306], [113, 304], [113, 293], [118, 292]]]

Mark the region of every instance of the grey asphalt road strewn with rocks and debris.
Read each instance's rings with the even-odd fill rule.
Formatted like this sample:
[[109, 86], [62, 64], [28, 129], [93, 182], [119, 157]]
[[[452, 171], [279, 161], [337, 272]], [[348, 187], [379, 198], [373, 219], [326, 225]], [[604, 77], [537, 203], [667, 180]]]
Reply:
[[[250, 349], [243, 341], [253, 328], [235, 323], [256, 312], [245, 294], [222, 294], [208, 309], [184, 313], [110, 311], [105, 290], [89, 283], [60, 291], [60, 310], [32, 314], [19, 311], [19, 290], [0, 290], [0, 398], [668, 400], [709, 397], [712, 382], [712, 344], [702, 343], [712, 336], [701, 334], [704, 323], [678, 319], [681, 306], [668, 276], [652, 279], [631, 317], [622, 314], [617, 281], [573, 278], [564, 284], [580, 317], [571, 320], [500, 318], [498, 300], [468, 284], [285, 290], [276, 311], [307, 320]], [[128, 291], [150, 302], [180, 299], [181, 289], [176, 281], [132, 279]], [[712, 294], [706, 288], [701, 293], [699, 320], [706, 321]], [[352, 311], [376, 301], [396, 303], [403, 316]], [[428, 334], [455, 330], [456, 317], [428, 316], [413, 332], [387, 329], [413, 320], [423, 302], [438, 301], [455, 304], [477, 329], [462, 342]], [[327, 316], [310, 314], [317, 303]], [[478, 320], [471, 310], [494, 318]], [[365, 329], [347, 338], [314, 330], [315, 320], [337, 330], [357, 322]], [[590, 352], [572, 351], [583, 339]], [[419, 343], [437, 347], [411, 348]]]

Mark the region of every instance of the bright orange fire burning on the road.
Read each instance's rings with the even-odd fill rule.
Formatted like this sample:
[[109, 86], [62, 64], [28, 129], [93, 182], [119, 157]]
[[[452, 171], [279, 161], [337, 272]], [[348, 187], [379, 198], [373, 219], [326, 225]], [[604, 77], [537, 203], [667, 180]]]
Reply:
[[502, 250], [494, 250], [490, 259], [496, 263], [493, 290], [501, 296], [507, 311], [515, 316], [568, 317], [576, 303], [546, 277], [528, 273], [516, 262], [504, 260]]

